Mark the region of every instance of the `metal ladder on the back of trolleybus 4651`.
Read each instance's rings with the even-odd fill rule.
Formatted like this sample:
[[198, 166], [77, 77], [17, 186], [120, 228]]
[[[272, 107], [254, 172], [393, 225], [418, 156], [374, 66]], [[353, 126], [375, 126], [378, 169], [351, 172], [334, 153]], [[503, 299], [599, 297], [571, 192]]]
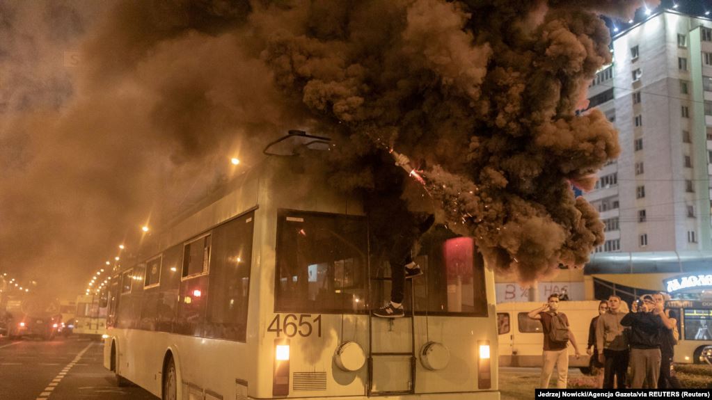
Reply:
[[[391, 278], [370, 278], [371, 280], [391, 280]], [[403, 394], [414, 394], [415, 393], [415, 285], [413, 279], [406, 279], [406, 283], [410, 282], [410, 316], [407, 312], [404, 314], [403, 318], [410, 317], [410, 352], [373, 352], [373, 324], [372, 319], [377, 318], [379, 320], [387, 319], [389, 320], [389, 327], [392, 329], [394, 325], [394, 318], [384, 318], [376, 317], [373, 315], [372, 310], [368, 313], [368, 382], [367, 382], [367, 396], [397, 396]], [[397, 391], [373, 391], [373, 359], [374, 357], [410, 357], [410, 385], [408, 390], [397, 390]]]

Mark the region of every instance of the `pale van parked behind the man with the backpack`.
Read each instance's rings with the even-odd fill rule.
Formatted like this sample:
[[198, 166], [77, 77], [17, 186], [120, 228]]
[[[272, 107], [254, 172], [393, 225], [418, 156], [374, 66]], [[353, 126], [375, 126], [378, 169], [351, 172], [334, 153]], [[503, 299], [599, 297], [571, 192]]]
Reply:
[[[544, 334], [541, 322], [527, 317], [528, 312], [544, 302], [503, 302], [497, 305], [500, 367], [541, 367]], [[559, 311], [566, 314], [569, 326], [581, 351], [576, 359], [569, 345], [569, 366], [590, 371], [590, 356], [586, 354], [588, 330], [593, 317], [598, 315], [599, 300], [562, 301]]]

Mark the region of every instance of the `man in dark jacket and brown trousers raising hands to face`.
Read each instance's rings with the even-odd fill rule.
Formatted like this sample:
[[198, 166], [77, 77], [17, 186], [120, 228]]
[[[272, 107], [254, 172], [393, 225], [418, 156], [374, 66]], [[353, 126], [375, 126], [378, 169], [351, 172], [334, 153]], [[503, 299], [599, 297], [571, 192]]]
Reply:
[[655, 300], [651, 295], [644, 295], [638, 307], [626, 314], [621, 325], [630, 331], [630, 369], [633, 374], [632, 389], [641, 389], [646, 382], [649, 388], [658, 387], [660, 374], [660, 344], [663, 322], [659, 313], [655, 313]]

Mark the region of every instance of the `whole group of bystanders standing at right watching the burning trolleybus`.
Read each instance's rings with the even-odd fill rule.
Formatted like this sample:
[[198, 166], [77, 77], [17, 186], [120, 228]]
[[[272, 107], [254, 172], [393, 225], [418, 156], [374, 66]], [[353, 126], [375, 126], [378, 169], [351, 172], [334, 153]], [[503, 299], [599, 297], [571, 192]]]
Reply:
[[[591, 320], [587, 354], [603, 389], [659, 388], [680, 389], [673, 369], [674, 346], [678, 340], [674, 311], [665, 309], [666, 293], [643, 295], [629, 310], [617, 295], [602, 300], [598, 316]], [[548, 388], [556, 367], [557, 388], [565, 389], [568, 371], [568, 342], [580, 357], [576, 339], [563, 312], [558, 311], [560, 296], [550, 295], [547, 302], [528, 313], [542, 322], [544, 333], [543, 365], [540, 387]], [[630, 373], [630, 377], [628, 374]]]

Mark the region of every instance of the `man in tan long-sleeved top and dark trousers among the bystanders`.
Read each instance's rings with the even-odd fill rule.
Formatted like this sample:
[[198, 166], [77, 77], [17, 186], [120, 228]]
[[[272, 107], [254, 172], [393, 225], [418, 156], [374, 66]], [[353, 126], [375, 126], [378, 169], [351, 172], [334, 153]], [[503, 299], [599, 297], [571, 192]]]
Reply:
[[608, 311], [601, 315], [596, 325], [598, 361], [603, 363], [603, 389], [613, 389], [614, 378], [618, 389], [625, 388], [628, 369], [628, 340], [621, 320], [627, 312], [621, 310], [625, 304], [617, 295], [609, 296]]

